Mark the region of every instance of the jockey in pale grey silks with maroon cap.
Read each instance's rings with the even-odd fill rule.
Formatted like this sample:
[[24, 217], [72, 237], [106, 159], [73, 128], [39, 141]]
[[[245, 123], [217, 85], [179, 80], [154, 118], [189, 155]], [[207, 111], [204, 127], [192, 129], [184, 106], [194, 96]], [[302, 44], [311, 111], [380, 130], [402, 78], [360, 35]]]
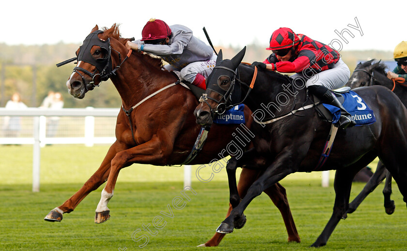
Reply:
[[205, 79], [216, 64], [216, 54], [211, 46], [193, 36], [192, 30], [182, 25], [168, 26], [159, 19], [150, 19], [141, 31], [142, 38], [128, 41], [128, 49], [156, 55], [168, 62], [164, 68], [173, 71], [201, 89], [206, 89]]

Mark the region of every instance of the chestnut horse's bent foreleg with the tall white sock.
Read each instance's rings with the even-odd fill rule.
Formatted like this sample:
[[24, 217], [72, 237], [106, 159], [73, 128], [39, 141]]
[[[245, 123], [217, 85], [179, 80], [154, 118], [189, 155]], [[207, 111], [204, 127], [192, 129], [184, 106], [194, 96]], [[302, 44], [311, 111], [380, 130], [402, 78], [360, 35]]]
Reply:
[[[102, 190], [100, 201], [96, 207], [95, 223], [103, 223], [110, 218], [108, 203], [111, 197], [113, 197], [113, 190], [120, 169], [128, 166], [130, 163], [155, 163], [160, 160], [162, 161], [165, 156], [171, 153], [172, 148], [168, 148], [164, 151], [160, 148], [161, 145], [165, 145], [165, 143], [162, 139], [155, 137], [155, 139], [144, 144], [118, 152], [116, 156], [114, 156], [111, 160], [110, 173], [106, 186]], [[166, 146], [168, 146], [168, 144]]]

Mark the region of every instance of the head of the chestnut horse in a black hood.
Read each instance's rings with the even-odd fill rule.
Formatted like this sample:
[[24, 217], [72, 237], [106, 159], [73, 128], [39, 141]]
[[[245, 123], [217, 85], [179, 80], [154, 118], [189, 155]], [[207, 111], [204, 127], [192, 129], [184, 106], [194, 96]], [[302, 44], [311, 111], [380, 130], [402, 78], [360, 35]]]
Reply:
[[[110, 29], [103, 30], [99, 30], [96, 25], [76, 51], [78, 64], [66, 81], [69, 93], [75, 98], [84, 98], [86, 92], [108, 80], [117, 70], [113, 69], [110, 36], [120, 38], [118, 25], [114, 24]], [[118, 54], [120, 58], [120, 53]]]

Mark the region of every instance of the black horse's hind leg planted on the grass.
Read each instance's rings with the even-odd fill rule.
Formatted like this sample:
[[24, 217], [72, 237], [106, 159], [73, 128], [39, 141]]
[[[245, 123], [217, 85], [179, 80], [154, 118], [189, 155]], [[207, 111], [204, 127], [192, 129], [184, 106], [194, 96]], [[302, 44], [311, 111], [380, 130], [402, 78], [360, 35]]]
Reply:
[[[363, 165], [364, 166], [364, 165]], [[349, 196], [352, 187], [352, 180], [356, 173], [360, 169], [355, 168], [345, 168], [336, 170], [334, 189], [335, 189], [335, 204], [333, 206], [332, 216], [329, 219], [327, 225], [322, 231], [321, 235], [318, 236], [316, 241], [311, 245], [311, 247], [322, 247], [328, 242], [329, 236], [332, 234], [336, 225], [343, 218], [346, 210], [349, 207]]]

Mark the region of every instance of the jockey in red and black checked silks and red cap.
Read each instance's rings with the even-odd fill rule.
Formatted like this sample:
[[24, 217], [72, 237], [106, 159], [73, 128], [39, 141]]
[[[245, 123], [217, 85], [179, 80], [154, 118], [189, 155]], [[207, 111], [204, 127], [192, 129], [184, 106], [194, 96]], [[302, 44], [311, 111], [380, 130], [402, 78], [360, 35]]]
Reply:
[[296, 86], [306, 86], [322, 103], [341, 109], [339, 128], [355, 125], [352, 116], [330, 91], [343, 87], [350, 76], [349, 68], [336, 50], [289, 28], [275, 30], [270, 47], [266, 49], [272, 54], [263, 62], [253, 62], [252, 65], [281, 73], [296, 73], [291, 76]]

